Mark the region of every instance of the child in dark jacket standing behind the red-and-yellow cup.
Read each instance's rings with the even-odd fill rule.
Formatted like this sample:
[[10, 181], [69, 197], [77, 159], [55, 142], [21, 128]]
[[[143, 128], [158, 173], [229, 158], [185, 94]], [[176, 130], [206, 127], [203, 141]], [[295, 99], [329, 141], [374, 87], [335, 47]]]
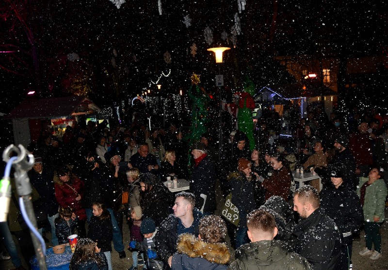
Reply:
[[58, 237], [60, 245], [69, 245], [67, 236], [74, 235], [74, 228], [77, 226], [76, 214], [71, 208], [65, 207], [59, 209], [59, 217], [55, 219], [55, 235]]

